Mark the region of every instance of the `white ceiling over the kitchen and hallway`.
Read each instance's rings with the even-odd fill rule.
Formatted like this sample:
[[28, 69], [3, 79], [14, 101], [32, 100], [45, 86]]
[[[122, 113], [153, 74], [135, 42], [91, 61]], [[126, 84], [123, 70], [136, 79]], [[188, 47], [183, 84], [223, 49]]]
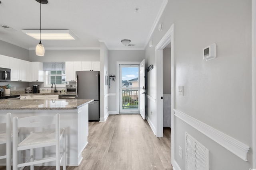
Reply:
[[[22, 29], [40, 29], [36, 0], [0, 0], [0, 40], [33, 50], [39, 43]], [[45, 49], [145, 49], [166, 0], [48, 0], [42, 4], [42, 29], [70, 29], [75, 40], [42, 40]], [[136, 8], [139, 10], [136, 12]], [[134, 46], [120, 41], [130, 39]]]

